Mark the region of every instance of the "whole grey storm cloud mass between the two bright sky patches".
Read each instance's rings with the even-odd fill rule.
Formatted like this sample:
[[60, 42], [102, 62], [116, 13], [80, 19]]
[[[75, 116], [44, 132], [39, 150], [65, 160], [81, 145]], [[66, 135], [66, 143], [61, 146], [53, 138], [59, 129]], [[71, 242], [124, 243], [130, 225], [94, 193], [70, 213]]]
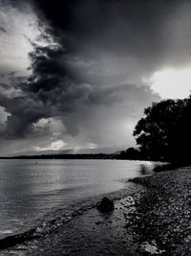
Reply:
[[[141, 83], [142, 77], [163, 64], [189, 60], [188, 1], [28, 2], [39, 18], [38, 40], [48, 43], [31, 42], [30, 77], [19, 81], [10, 72], [10, 83], [0, 84], [0, 105], [10, 114], [2, 138], [30, 140], [37, 136], [34, 125], [39, 120], [58, 118], [65, 128], [61, 136], [85, 130], [85, 139], [106, 145], [112, 130], [112, 143], [121, 143], [117, 128], [136, 123], [145, 106], [159, 101], [159, 95]], [[26, 1], [7, 3], [25, 12]], [[187, 24], [184, 35], [181, 20]], [[42, 29], [44, 24], [51, 27]], [[39, 134], [48, 134], [47, 126]], [[108, 132], [103, 136], [104, 128]]]

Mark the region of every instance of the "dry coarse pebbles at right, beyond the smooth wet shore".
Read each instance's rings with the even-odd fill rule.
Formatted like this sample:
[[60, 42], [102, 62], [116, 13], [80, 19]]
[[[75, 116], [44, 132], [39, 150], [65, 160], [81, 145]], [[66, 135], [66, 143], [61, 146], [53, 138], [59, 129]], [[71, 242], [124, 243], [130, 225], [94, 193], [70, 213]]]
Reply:
[[157, 244], [160, 255], [191, 255], [191, 168], [134, 182], [147, 188], [132, 219], [138, 244]]

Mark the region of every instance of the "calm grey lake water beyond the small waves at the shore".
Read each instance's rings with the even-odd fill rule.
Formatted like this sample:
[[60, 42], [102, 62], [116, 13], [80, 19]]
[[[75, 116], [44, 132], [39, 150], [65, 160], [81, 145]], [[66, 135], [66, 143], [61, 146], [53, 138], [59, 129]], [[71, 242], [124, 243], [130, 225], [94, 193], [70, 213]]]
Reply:
[[115, 160], [0, 160], [0, 238], [27, 230], [71, 202], [124, 187], [150, 162]]

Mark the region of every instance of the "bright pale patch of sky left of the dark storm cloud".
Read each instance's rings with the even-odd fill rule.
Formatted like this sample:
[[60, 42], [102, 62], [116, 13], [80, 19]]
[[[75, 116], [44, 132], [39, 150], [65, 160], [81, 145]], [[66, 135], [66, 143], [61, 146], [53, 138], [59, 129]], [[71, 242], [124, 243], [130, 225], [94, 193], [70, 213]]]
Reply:
[[0, 70], [1, 75], [19, 72], [21, 76], [29, 73], [29, 53], [33, 41], [40, 35], [36, 14], [30, 5], [25, 12], [11, 5], [0, 3]]

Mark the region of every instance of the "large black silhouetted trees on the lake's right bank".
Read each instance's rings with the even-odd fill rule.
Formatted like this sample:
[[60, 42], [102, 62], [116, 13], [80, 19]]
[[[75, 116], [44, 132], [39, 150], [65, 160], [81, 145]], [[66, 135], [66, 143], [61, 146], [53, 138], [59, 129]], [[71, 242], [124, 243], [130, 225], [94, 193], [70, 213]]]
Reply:
[[144, 109], [134, 130], [145, 159], [191, 162], [191, 97], [165, 100]]

